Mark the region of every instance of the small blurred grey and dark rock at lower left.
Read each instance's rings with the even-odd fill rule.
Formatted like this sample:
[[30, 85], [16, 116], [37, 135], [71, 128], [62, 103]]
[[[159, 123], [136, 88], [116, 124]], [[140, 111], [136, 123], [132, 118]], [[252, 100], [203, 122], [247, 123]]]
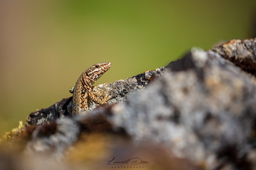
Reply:
[[78, 135], [79, 125], [72, 119], [57, 119], [49, 125], [34, 130], [32, 140], [26, 144], [25, 152], [48, 154], [54, 148], [55, 154], [50, 154], [52, 159], [61, 159], [64, 149], [76, 142]]

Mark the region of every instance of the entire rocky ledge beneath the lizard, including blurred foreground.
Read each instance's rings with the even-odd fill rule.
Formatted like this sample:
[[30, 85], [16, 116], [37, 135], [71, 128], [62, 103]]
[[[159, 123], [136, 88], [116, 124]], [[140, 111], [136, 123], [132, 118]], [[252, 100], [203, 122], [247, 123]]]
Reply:
[[72, 117], [70, 97], [31, 113], [13, 137], [22, 159], [2, 155], [26, 162], [20, 169], [256, 169], [255, 73], [256, 38], [192, 48], [166, 67], [94, 87], [112, 91], [108, 105]]

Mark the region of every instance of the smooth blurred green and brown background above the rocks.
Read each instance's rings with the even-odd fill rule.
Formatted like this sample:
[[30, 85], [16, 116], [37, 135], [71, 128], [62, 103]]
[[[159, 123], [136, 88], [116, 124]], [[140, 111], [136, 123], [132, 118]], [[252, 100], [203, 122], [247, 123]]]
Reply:
[[256, 0], [0, 0], [0, 135], [71, 96], [97, 62], [102, 84], [256, 33]]

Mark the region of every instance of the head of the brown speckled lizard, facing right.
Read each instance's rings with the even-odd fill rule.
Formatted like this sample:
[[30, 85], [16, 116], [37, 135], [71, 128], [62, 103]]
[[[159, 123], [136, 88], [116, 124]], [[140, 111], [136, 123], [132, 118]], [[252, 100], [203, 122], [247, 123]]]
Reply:
[[87, 77], [96, 82], [111, 67], [110, 62], [97, 63], [85, 70]]

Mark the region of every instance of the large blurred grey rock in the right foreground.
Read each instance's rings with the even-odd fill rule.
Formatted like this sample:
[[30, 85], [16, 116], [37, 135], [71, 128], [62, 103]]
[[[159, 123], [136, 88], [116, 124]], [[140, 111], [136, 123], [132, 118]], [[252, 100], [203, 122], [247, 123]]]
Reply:
[[99, 115], [133, 142], [167, 144], [206, 169], [255, 168], [256, 79], [213, 51], [192, 49], [128, 102], [77, 119]]

